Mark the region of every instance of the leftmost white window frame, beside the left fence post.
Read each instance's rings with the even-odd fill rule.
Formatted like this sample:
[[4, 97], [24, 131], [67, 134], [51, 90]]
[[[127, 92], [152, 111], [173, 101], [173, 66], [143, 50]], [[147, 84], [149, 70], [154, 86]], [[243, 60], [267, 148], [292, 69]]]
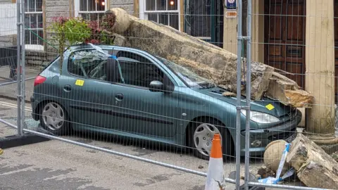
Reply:
[[[32, 1], [32, 0], [27, 0], [27, 3], [25, 3], [25, 19], [26, 18], [30, 19], [31, 15], [37, 15], [37, 20], [36, 21], [37, 21], [37, 25], [38, 25], [39, 24], [39, 15], [41, 15], [42, 16], [42, 27], [31, 28], [30, 25], [29, 26], [25, 25], [25, 27], [29, 28], [29, 29], [25, 28], [25, 31], [29, 31], [30, 32], [30, 30], [33, 30], [33, 31], [37, 30], [37, 34], [38, 35], [39, 35], [39, 31], [42, 31], [42, 35], [43, 35], [44, 34], [44, 15], [43, 15], [44, 14], [44, 9], [43, 9], [43, 1], [44, 0], [41, 1], [41, 11], [37, 11], [37, 1], [35, 1], [35, 7], [34, 7], [35, 10], [31, 11], [28, 8], [28, 6], [30, 6], [30, 1]], [[26, 7], [27, 7], [27, 10], [26, 10]], [[32, 23], [31, 20], [30, 20], [30, 23]], [[38, 44], [38, 43], [32, 44], [32, 37], [31, 37], [31, 35], [35, 35], [35, 34], [32, 34], [30, 32], [30, 43], [27, 44], [25, 42], [25, 49], [44, 51], [44, 42], [42, 42], [42, 44]], [[37, 37], [37, 39], [38, 39], [38, 37]], [[27, 39], [25, 37], [25, 41], [26, 40]]]

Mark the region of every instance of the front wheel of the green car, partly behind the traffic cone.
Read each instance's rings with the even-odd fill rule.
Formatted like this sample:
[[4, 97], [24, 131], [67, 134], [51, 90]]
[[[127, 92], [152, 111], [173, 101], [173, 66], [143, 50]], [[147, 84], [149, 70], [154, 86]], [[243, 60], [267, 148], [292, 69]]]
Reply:
[[[199, 134], [197, 132], [199, 132]], [[212, 145], [211, 140], [213, 139], [213, 134], [215, 133], [220, 133], [221, 136], [223, 159], [232, 156], [233, 144], [230, 132], [221, 122], [214, 119], [197, 120], [189, 127], [189, 148], [192, 148], [194, 156], [204, 160], [209, 160]], [[202, 148], [204, 151], [201, 151], [201, 146], [209, 149], [206, 150], [206, 148]]]

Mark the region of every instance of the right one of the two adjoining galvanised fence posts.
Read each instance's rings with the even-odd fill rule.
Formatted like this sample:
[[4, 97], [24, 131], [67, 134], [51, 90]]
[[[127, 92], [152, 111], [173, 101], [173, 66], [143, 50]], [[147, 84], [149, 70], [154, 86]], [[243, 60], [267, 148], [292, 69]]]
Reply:
[[244, 187], [249, 190], [249, 162], [250, 162], [250, 101], [251, 101], [251, 8], [252, 1], [247, 4], [246, 23], [246, 124], [245, 124], [245, 166]]

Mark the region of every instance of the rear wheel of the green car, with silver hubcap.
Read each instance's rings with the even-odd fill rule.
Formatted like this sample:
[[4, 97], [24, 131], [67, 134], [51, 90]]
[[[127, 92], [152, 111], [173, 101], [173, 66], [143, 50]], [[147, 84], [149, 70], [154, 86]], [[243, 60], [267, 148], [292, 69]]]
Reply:
[[65, 134], [68, 130], [67, 115], [64, 108], [56, 103], [45, 103], [40, 109], [40, 124], [53, 134]]

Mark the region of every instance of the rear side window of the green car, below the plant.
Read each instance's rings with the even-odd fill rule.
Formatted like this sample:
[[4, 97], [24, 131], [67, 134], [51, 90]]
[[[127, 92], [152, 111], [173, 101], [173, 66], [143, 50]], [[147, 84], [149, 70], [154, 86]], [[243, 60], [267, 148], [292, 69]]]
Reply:
[[68, 72], [85, 78], [106, 81], [108, 58], [96, 50], [81, 50], [72, 53], [68, 60]]

